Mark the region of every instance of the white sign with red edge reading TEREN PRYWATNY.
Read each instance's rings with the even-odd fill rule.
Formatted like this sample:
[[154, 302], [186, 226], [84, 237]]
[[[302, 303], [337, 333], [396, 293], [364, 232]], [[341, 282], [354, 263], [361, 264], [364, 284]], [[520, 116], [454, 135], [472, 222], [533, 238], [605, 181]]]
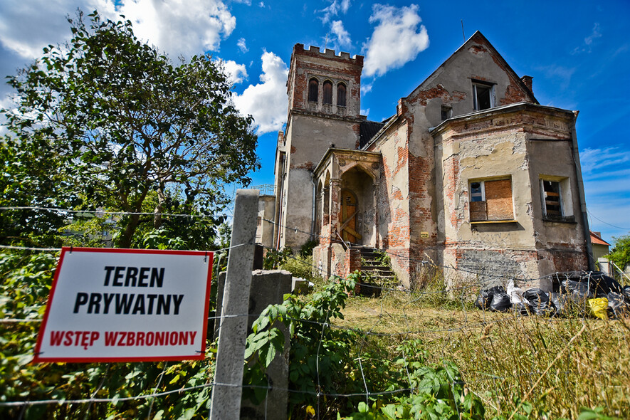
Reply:
[[63, 248], [34, 362], [203, 359], [212, 257]]

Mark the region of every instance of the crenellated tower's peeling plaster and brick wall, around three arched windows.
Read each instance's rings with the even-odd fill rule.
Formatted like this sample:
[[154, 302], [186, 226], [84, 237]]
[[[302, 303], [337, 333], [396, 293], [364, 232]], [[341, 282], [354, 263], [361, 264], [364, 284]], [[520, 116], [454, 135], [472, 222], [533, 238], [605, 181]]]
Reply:
[[[291, 56], [287, 93], [289, 115], [285, 131], [287, 165], [284, 195], [280, 204], [280, 248], [297, 247], [310, 239], [313, 219], [311, 172], [326, 150], [335, 147], [355, 149], [359, 142], [361, 70], [363, 57], [348, 53], [305, 50], [296, 44]], [[317, 78], [317, 102], [308, 101], [308, 81]], [[322, 85], [333, 83], [332, 104], [322, 103]], [[347, 106], [337, 106], [337, 83], [347, 86]]]

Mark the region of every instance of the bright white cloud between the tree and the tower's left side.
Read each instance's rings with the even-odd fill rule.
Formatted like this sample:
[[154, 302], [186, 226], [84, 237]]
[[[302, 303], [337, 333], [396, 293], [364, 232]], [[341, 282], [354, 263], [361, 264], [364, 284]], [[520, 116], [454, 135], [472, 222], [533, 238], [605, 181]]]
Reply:
[[288, 98], [287, 65], [274, 53], [262, 56], [261, 83], [249, 85], [241, 95], [234, 95], [234, 105], [243, 115], [251, 114], [258, 126], [258, 135], [282, 129], [286, 121]]

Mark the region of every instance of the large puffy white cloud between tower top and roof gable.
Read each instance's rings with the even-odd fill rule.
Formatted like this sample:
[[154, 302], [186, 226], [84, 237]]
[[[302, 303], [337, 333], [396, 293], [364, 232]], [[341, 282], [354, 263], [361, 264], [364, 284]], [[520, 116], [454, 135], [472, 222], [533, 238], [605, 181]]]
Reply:
[[366, 76], [384, 75], [392, 68], [413, 61], [429, 47], [429, 34], [418, 14], [419, 7], [394, 7], [374, 4], [369, 23], [377, 23], [372, 37], [364, 43]]

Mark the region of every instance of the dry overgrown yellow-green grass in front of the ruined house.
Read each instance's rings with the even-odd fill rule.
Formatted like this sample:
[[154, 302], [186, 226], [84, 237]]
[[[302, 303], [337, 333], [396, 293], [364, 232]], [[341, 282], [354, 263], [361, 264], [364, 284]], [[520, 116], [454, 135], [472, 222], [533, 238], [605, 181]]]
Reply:
[[412, 344], [427, 364], [454, 362], [488, 419], [630, 418], [629, 319], [486, 313], [437, 285], [352, 297], [335, 324], [379, 334], [358, 343], [373, 354]]

